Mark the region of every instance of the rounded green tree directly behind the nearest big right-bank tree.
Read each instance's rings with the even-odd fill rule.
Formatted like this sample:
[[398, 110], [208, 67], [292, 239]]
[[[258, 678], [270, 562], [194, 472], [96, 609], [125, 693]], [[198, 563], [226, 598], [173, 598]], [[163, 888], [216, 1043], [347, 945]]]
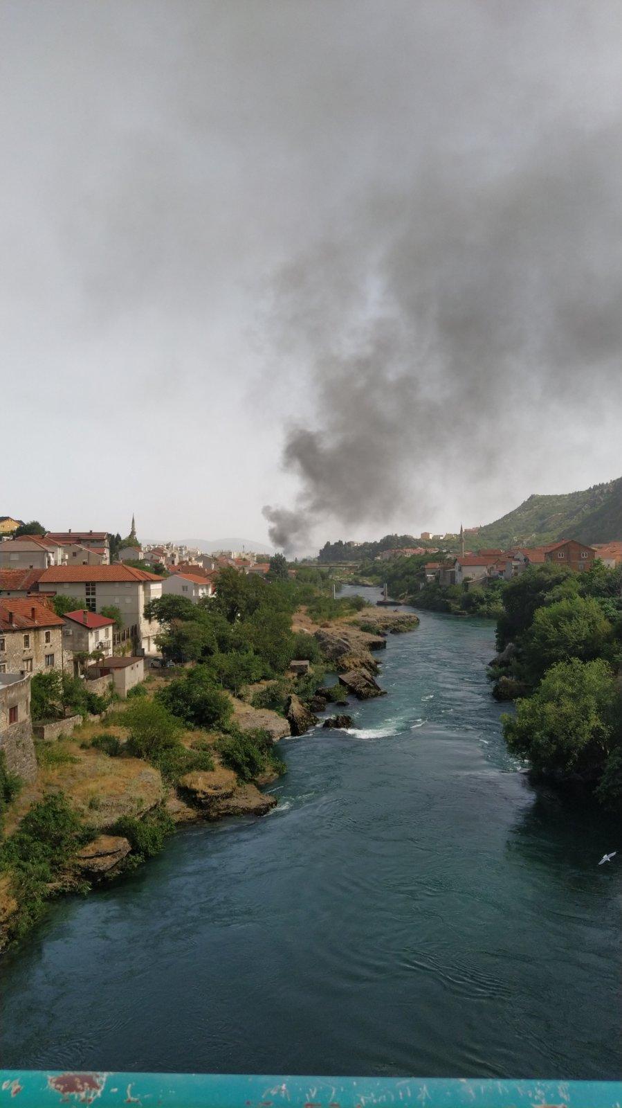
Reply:
[[580, 658], [590, 661], [608, 656], [613, 628], [598, 601], [574, 595], [538, 608], [523, 643], [523, 660], [532, 680], [556, 661]]

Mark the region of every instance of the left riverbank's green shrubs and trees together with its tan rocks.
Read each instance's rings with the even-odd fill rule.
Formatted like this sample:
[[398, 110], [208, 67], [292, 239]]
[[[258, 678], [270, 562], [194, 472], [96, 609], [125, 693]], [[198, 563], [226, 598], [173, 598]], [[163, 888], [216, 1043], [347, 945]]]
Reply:
[[[346, 695], [322, 687], [325, 661], [344, 681], [364, 677], [356, 695], [380, 694], [369, 652], [384, 645], [379, 629], [391, 616], [357, 596], [333, 599], [331, 587], [326, 574], [304, 567], [290, 579], [277, 556], [267, 581], [225, 570], [212, 599], [152, 602], [147, 614], [162, 624], [158, 646], [170, 665], [125, 702], [93, 698], [73, 678], [33, 677], [35, 719], [75, 712], [83, 722], [68, 738], [37, 743], [33, 784], [22, 786], [0, 759], [2, 945], [52, 896], [87, 892], [157, 853], [176, 824], [269, 811], [276, 800], [258, 786], [284, 771], [274, 742]], [[405, 629], [416, 618], [394, 623]], [[309, 661], [307, 674], [289, 671], [294, 658]], [[94, 712], [105, 715], [92, 720]]]

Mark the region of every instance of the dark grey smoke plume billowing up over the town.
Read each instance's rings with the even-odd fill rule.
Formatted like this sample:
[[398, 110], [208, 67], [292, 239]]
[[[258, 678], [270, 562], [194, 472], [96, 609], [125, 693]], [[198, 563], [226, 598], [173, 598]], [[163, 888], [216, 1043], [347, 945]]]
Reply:
[[[509, 63], [508, 9], [483, 7], [486, 49]], [[525, 16], [535, 30], [538, 13]], [[419, 157], [405, 155], [401, 187], [371, 183], [330, 238], [279, 276], [277, 346], [305, 365], [315, 403], [283, 449], [300, 479], [296, 504], [265, 510], [286, 550], [320, 521], [343, 533], [388, 525], [408, 505], [413, 519], [434, 515], [448, 488], [464, 490], [468, 512], [474, 489], [481, 499], [487, 484], [511, 488], [517, 470], [547, 486], [585, 429], [593, 437], [620, 412], [622, 104], [608, 114], [599, 98], [569, 95], [551, 113], [545, 71], [553, 88], [567, 74], [549, 68], [547, 47], [518, 120], [514, 94], [495, 90], [507, 134], [468, 148], [448, 125]], [[576, 55], [559, 60], [571, 69]], [[476, 62], [468, 51], [458, 60], [463, 80]], [[487, 76], [485, 66], [471, 84], [475, 131]]]

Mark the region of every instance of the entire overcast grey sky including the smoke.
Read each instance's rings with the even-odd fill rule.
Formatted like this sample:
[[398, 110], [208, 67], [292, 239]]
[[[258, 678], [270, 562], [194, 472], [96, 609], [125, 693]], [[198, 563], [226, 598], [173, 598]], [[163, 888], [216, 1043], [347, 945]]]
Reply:
[[0, 11], [0, 514], [303, 550], [622, 475], [620, 0]]

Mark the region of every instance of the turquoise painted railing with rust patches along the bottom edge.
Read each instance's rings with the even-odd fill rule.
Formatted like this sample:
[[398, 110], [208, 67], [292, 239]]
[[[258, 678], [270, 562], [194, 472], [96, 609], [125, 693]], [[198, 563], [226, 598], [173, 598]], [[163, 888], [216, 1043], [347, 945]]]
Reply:
[[621, 1081], [0, 1070], [15, 1108], [622, 1108]]

